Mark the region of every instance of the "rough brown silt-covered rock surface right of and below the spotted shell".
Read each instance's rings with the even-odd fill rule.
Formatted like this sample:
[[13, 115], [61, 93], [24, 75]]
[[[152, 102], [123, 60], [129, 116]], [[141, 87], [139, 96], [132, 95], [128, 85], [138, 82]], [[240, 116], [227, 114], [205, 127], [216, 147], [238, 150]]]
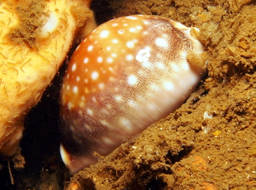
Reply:
[[180, 109], [77, 173], [68, 189], [254, 189], [255, 3], [122, 1], [118, 7], [117, 17], [157, 14], [198, 27], [208, 76]]

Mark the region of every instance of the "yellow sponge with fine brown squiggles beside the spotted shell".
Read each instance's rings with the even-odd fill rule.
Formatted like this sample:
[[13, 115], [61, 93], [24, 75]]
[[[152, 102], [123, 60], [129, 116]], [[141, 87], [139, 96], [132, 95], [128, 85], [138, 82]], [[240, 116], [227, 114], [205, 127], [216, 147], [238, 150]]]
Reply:
[[6, 156], [15, 154], [26, 114], [51, 83], [75, 35], [93, 21], [91, 0], [12, 2], [0, 2], [0, 153]]

